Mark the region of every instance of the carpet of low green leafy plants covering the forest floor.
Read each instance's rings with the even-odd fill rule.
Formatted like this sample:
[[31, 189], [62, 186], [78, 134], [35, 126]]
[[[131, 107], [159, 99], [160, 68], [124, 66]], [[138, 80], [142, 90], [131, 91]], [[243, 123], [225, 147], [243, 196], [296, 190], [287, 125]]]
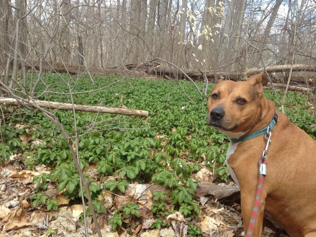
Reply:
[[[95, 164], [100, 173], [100, 180], [89, 183], [89, 191], [94, 200], [95, 211], [104, 211], [97, 197], [102, 194], [100, 183], [105, 176], [115, 179], [103, 185], [103, 189], [112, 192], [124, 192], [131, 182], [154, 183], [172, 188], [171, 203], [189, 218], [198, 217], [199, 206], [193, 199], [197, 179], [192, 178], [201, 167], [214, 170], [215, 177], [226, 181], [228, 169], [225, 165], [228, 138], [206, 125], [206, 100], [197, 93], [196, 88], [188, 81], [180, 81], [181, 87], [191, 97], [191, 102], [181, 91], [175, 81], [164, 79], [124, 79], [108, 76], [95, 78], [91, 83], [86, 77], [68, 78], [67, 75], [46, 74], [45, 83], [38, 88], [40, 94], [47, 85], [50, 93], [39, 99], [55, 102], [69, 102], [69, 87], [64, 80], [69, 80], [74, 93], [74, 103], [93, 106], [126, 107], [149, 112], [146, 119], [113, 114], [96, 114], [76, 112], [78, 135], [83, 135], [78, 143], [78, 156], [81, 168]], [[61, 83], [56, 83], [56, 82]], [[106, 87], [116, 82], [110, 87]], [[202, 90], [203, 83], [197, 83]], [[97, 90], [99, 88], [103, 88]], [[213, 85], [210, 85], [209, 92]], [[91, 91], [80, 93], [82, 91]], [[59, 92], [59, 93], [55, 93]], [[209, 93], [208, 93], [209, 94]], [[276, 106], [280, 102], [270, 89], [264, 95], [273, 100]], [[278, 92], [282, 98], [282, 92]], [[285, 101], [285, 111], [291, 121], [307, 131], [315, 139], [315, 116], [309, 97], [290, 92]], [[34, 178], [37, 184], [32, 195], [34, 206], [42, 203], [47, 210], [57, 209], [56, 199], [48, 197], [43, 191], [49, 183], [56, 183], [58, 190], [66, 190], [67, 198], [79, 200], [79, 175], [72, 161], [67, 143], [63, 140], [57, 126], [52, 124], [40, 112], [29, 112], [24, 108], [18, 111], [3, 107], [5, 117], [0, 127], [2, 143], [0, 143], [1, 162], [9, 160], [9, 156], [21, 153], [29, 169], [37, 164], [52, 167], [50, 174], [42, 174]], [[26, 113], [27, 112], [27, 113]], [[54, 113], [72, 134], [75, 131], [74, 113], [72, 111], [55, 110]], [[16, 126], [25, 123], [25, 126]], [[91, 121], [96, 126], [90, 129]], [[102, 122], [106, 121], [106, 122]], [[27, 129], [26, 129], [27, 126]], [[90, 129], [90, 130], [89, 130]], [[87, 132], [88, 131], [88, 132]], [[21, 143], [20, 135], [30, 137], [29, 143]], [[43, 141], [39, 145], [31, 145], [32, 141]], [[86, 179], [89, 177], [86, 174]], [[84, 191], [85, 193], [85, 191]], [[84, 194], [85, 195], [85, 194]], [[154, 193], [152, 212], [156, 223], [153, 228], [165, 225], [159, 218], [174, 210], [165, 210], [165, 193]], [[115, 211], [109, 223], [112, 229], [119, 228], [126, 216], [139, 217], [139, 206], [129, 203]], [[159, 218], [158, 218], [159, 217]], [[158, 221], [159, 220], [159, 221]], [[192, 234], [199, 234], [196, 226], [191, 226]]]

